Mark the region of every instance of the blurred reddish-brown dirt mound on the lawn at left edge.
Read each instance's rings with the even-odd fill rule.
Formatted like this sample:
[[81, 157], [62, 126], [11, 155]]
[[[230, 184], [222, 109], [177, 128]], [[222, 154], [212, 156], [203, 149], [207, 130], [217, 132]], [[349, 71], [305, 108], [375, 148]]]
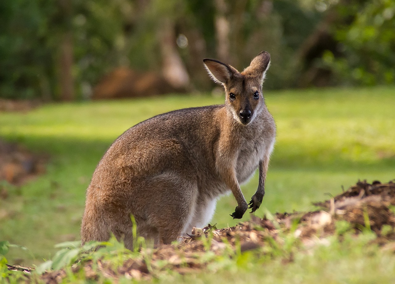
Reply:
[[45, 172], [48, 157], [30, 153], [26, 148], [0, 140], [0, 180], [13, 185]]

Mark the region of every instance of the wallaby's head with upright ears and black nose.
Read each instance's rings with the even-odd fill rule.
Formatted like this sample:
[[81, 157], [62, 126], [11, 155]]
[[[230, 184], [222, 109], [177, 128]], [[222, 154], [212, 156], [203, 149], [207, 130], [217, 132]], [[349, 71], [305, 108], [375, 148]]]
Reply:
[[241, 73], [217, 60], [204, 59], [203, 62], [214, 82], [224, 86], [229, 114], [243, 125], [253, 121], [265, 105], [262, 83], [270, 64], [270, 54], [261, 52]]

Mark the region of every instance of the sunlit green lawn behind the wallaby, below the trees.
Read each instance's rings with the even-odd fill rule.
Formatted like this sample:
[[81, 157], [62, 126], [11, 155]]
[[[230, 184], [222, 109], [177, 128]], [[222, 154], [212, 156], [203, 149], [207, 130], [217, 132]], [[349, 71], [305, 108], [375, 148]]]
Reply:
[[[323, 200], [325, 192], [341, 192], [341, 185], [395, 178], [395, 87], [265, 96], [278, 135], [262, 207], [271, 212], [311, 209], [311, 202]], [[9, 263], [40, 263], [53, 256], [56, 243], [79, 239], [89, 180], [105, 150], [123, 131], [162, 112], [222, 101], [208, 95], [169, 95], [0, 113], [1, 138], [51, 156], [45, 175], [21, 188], [8, 187], [9, 197], [0, 200], [0, 211], [8, 212], [0, 219], [0, 240], [23, 245], [34, 255], [10, 250]], [[257, 176], [243, 185], [248, 201], [257, 185]], [[236, 224], [238, 220], [229, 216], [235, 206], [232, 196], [220, 199], [213, 223], [218, 228]], [[264, 210], [256, 214], [261, 216]], [[247, 213], [244, 219], [248, 218]], [[264, 277], [263, 271], [259, 273]]]

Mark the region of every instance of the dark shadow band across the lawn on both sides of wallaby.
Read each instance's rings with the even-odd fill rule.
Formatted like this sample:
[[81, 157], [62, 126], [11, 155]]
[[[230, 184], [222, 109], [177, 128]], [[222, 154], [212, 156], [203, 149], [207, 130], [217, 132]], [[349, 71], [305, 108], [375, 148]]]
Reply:
[[[114, 137], [114, 140], [117, 137]], [[83, 172], [93, 173], [94, 168], [104, 155], [105, 151], [111, 146], [114, 140], [108, 139], [79, 139], [70, 137], [54, 136], [23, 136], [17, 141], [30, 148], [32, 151], [49, 154], [54, 166], [62, 166], [66, 170], [79, 168]], [[287, 145], [282, 142], [278, 145], [271, 157], [270, 169], [297, 170], [298, 172], [347, 172], [360, 171], [389, 171], [395, 168], [395, 156], [371, 157], [371, 159], [351, 159], [336, 149], [310, 148], [295, 144]]]

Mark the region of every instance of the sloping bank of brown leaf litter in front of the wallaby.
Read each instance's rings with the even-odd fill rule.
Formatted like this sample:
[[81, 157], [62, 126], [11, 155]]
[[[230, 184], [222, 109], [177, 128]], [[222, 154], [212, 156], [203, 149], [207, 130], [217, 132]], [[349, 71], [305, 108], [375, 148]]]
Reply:
[[[194, 228], [190, 237], [173, 245], [155, 249], [140, 248], [114, 264], [113, 258], [80, 259], [71, 266], [72, 273], [83, 273], [87, 279], [98, 280], [100, 275], [117, 282], [120, 277], [150, 279], [163, 271], [179, 274], [197, 273], [215, 269], [212, 266], [220, 256], [235, 258], [245, 252], [257, 256], [281, 256], [282, 262], [292, 262], [293, 250], [285, 249], [285, 235], [292, 235], [293, 247], [313, 247], [327, 244], [327, 237], [341, 236], [346, 231], [359, 234], [371, 230], [376, 234], [372, 243], [395, 253], [395, 183], [358, 181], [347, 191], [324, 202], [316, 202], [316, 211], [266, 214], [262, 219], [253, 216], [248, 222], [217, 229], [209, 225]], [[348, 224], [339, 231], [338, 222]], [[329, 243], [328, 243], [329, 244]], [[126, 252], [124, 252], [127, 254]], [[11, 267], [12, 268], [12, 267]], [[23, 268], [20, 268], [23, 269]], [[26, 271], [26, 269], [24, 270]], [[47, 271], [41, 281], [57, 284], [68, 277], [66, 269]], [[26, 282], [30, 282], [29, 275]]]

